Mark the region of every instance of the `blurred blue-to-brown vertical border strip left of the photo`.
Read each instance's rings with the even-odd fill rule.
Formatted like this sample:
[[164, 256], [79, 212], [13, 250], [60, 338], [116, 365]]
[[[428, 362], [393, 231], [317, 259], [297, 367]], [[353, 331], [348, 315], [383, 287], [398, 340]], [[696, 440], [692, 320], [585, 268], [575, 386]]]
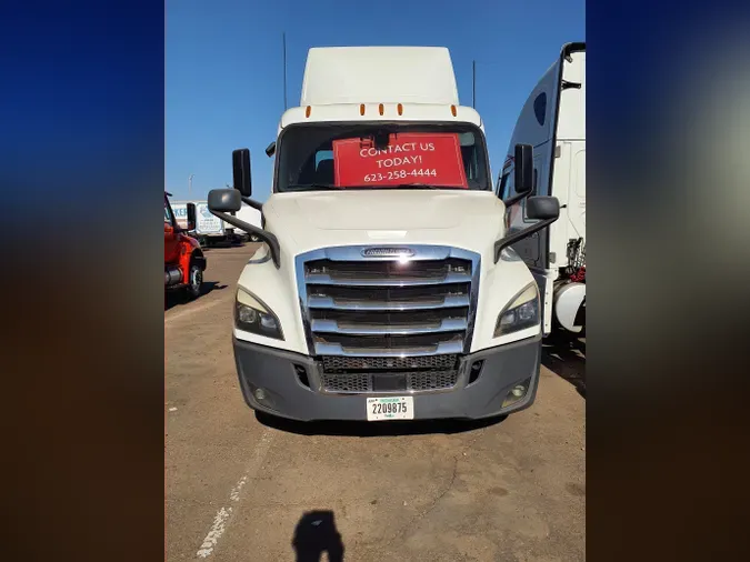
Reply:
[[164, 559], [163, 139], [162, 2], [3, 2], [3, 560]]

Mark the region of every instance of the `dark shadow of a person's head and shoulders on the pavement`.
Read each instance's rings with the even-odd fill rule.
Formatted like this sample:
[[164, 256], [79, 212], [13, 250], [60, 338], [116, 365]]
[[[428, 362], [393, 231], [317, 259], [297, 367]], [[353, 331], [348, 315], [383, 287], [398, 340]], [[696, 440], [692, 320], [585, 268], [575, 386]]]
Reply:
[[323, 552], [329, 562], [343, 561], [343, 542], [336, 529], [332, 511], [309, 511], [294, 528], [292, 548], [297, 562], [320, 562]]

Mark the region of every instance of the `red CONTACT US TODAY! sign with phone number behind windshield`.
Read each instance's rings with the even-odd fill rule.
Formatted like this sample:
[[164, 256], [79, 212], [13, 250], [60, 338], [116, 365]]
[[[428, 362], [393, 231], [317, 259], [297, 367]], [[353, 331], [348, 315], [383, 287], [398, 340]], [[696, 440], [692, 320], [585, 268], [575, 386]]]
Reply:
[[369, 139], [333, 141], [337, 185], [382, 187], [402, 183], [467, 189], [458, 134], [392, 133], [388, 147]]

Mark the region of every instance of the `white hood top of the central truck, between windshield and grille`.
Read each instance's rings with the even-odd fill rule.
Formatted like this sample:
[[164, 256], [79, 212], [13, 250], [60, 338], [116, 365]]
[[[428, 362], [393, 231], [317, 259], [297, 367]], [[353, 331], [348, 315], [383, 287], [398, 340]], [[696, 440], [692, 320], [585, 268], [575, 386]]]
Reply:
[[504, 205], [490, 191], [309, 191], [272, 194], [263, 214], [289, 258], [372, 243], [444, 244], [486, 254], [503, 233]]

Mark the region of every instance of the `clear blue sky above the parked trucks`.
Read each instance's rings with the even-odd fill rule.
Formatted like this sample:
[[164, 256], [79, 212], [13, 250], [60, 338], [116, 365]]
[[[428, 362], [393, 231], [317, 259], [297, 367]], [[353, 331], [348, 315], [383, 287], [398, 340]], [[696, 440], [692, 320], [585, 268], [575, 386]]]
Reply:
[[[299, 106], [311, 47], [447, 47], [462, 106], [482, 116], [492, 175], [516, 119], [563, 43], [584, 41], [583, 0], [167, 0], [164, 189], [173, 200], [204, 199], [232, 183], [231, 152], [250, 149], [253, 198], [271, 193], [276, 140], [287, 97]], [[189, 194], [189, 180], [192, 190]]]

